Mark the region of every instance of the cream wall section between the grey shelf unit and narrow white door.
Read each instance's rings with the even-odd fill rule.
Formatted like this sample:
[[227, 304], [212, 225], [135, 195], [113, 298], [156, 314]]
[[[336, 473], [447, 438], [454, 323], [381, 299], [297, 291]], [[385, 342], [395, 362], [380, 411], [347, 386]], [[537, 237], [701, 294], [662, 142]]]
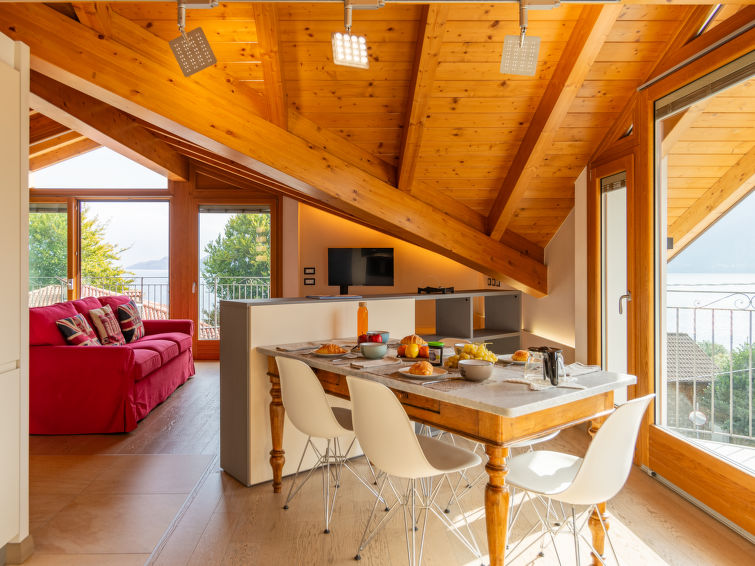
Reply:
[[574, 211], [545, 248], [548, 295], [523, 295], [522, 325], [536, 336], [574, 347]]

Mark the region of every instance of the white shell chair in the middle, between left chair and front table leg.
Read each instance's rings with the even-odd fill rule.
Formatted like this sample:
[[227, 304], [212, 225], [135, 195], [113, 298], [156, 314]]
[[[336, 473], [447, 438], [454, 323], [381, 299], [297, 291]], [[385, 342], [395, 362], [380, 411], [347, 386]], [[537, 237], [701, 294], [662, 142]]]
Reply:
[[[351, 395], [354, 432], [365, 455], [376, 468], [384, 472], [378, 488], [378, 498], [372, 507], [354, 558], [356, 560], [361, 558], [360, 553], [399, 506], [404, 512], [406, 550], [410, 565], [415, 566], [422, 562], [427, 518], [430, 513], [438, 517], [477, 558], [480, 558], [480, 549], [469, 528], [466, 515], [459, 505], [458, 498], [454, 496], [464, 519], [468, 538], [459, 532], [435, 502], [444, 479], [451, 487], [446, 474], [476, 466], [481, 462], [480, 457], [464, 448], [415, 434], [414, 426], [409, 421], [401, 403], [386, 386], [351, 376], [347, 376], [346, 380]], [[441, 479], [433, 482], [436, 476], [441, 476]], [[406, 489], [400, 489], [402, 487], [400, 484], [397, 488], [398, 482], [394, 483], [392, 478], [407, 480]], [[386, 485], [390, 486], [396, 502], [387, 509], [388, 512], [370, 532], [370, 524]], [[419, 520], [418, 509], [420, 514], [424, 512], [419, 549], [417, 549], [415, 535]], [[411, 531], [411, 536], [409, 531]]]

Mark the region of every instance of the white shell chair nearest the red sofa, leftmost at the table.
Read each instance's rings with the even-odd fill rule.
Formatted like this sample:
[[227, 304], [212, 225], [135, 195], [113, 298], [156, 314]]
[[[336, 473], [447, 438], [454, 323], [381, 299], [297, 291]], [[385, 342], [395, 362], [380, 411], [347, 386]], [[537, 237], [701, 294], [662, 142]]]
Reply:
[[[354, 434], [351, 424], [351, 411], [342, 407], [330, 406], [320, 381], [312, 371], [312, 368], [304, 362], [282, 356], [276, 356], [275, 362], [278, 365], [278, 373], [280, 375], [283, 407], [286, 409], [288, 418], [293, 425], [308, 437], [283, 508], [288, 509], [288, 504], [291, 500], [299, 493], [299, 490], [307, 483], [309, 478], [312, 477], [314, 471], [321, 467], [323, 502], [325, 504], [325, 533], [329, 533], [330, 519], [333, 515], [333, 506], [335, 505], [338, 487], [341, 483], [341, 471], [343, 467], [351, 471], [367, 489], [376, 494], [375, 490], [348, 462], [349, 453], [356, 437], [352, 438], [346, 452], [341, 450], [339, 437], [352, 436]], [[327, 441], [325, 452], [317, 449], [314, 442], [312, 442], [312, 438], [323, 438]], [[301, 483], [296, 486], [296, 480], [299, 477], [304, 456], [309, 448], [313, 450], [317, 457], [317, 463], [310, 468]], [[331, 466], [333, 466], [333, 470], [331, 470]], [[335, 482], [332, 498], [330, 494], [331, 476]]]

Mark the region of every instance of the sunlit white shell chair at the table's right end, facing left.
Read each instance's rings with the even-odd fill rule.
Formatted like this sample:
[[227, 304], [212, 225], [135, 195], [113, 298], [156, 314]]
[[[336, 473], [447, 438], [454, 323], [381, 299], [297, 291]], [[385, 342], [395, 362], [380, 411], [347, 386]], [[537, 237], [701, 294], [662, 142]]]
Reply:
[[[640, 428], [642, 416], [654, 396], [647, 395], [619, 406], [600, 427], [584, 458], [561, 452], [538, 450], [520, 454], [511, 458], [508, 462], [509, 473], [506, 476], [506, 483], [525, 491], [525, 495], [532, 503], [544, 528], [541, 536], [549, 535], [555, 547], [554, 536], [565, 525], [569, 525], [574, 535], [575, 564], [578, 566], [580, 564], [580, 537], [590, 547], [593, 555], [598, 557], [601, 564], [605, 564], [603, 557], [595, 550], [589, 539], [580, 534], [593, 511], [600, 519], [601, 527], [611, 547], [614, 559], [617, 564], [619, 563], [616, 549], [610, 536], [608, 536], [608, 530], [596, 506], [613, 498], [629, 477], [634, 447], [637, 442], [637, 432]], [[537, 497], [547, 498], [545, 518], [535, 506]], [[553, 502], [557, 502], [561, 506], [566, 504], [571, 507], [571, 523], [565, 516], [562, 522], [554, 524], [556, 528], [551, 527], [548, 522], [548, 513], [551, 511]], [[579, 527], [577, 527], [575, 505], [587, 506], [586, 510], [580, 513], [581, 524]], [[534, 542], [536, 541], [531, 542], [511, 560], [513, 561], [521, 556]], [[516, 547], [513, 550], [516, 550]], [[558, 550], [556, 550], [556, 556], [559, 564], [561, 564]]]

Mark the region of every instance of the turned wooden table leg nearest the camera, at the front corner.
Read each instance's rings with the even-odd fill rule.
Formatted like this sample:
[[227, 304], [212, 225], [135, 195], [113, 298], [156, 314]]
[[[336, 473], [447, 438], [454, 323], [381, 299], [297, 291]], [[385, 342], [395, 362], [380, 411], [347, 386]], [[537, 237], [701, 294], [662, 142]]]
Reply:
[[509, 524], [509, 488], [504, 485], [508, 470], [506, 457], [509, 449], [502, 446], [485, 445], [488, 463], [488, 483], [485, 486], [485, 526], [488, 532], [488, 553], [490, 566], [503, 566], [506, 550], [506, 532]]

